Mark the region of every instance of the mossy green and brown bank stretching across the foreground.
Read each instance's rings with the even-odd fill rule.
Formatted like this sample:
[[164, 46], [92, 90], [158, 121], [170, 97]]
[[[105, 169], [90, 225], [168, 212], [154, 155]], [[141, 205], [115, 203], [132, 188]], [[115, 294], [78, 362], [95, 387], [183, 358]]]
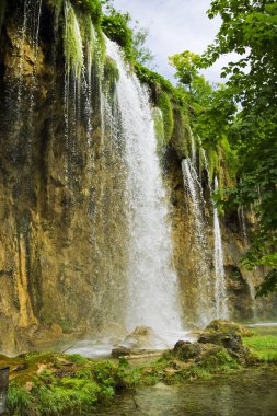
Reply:
[[142, 363], [124, 357], [93, 361], [80, 355], [55, 353], [25, 354], [15, 358], [0, 356], [0, 367], [10, 367], [8, 415], [89, 414], [126, 389], [158, 382], [176, 384], [207, 380], [245, 367], [277, 363], [277, 336], [246, 334], [243, 345], [251, 351], [246, 360], [215, 345], [205, 346], [204, 354], [198, 357], [185, 358], [169, 350], [160, 358], [148, 358]]

